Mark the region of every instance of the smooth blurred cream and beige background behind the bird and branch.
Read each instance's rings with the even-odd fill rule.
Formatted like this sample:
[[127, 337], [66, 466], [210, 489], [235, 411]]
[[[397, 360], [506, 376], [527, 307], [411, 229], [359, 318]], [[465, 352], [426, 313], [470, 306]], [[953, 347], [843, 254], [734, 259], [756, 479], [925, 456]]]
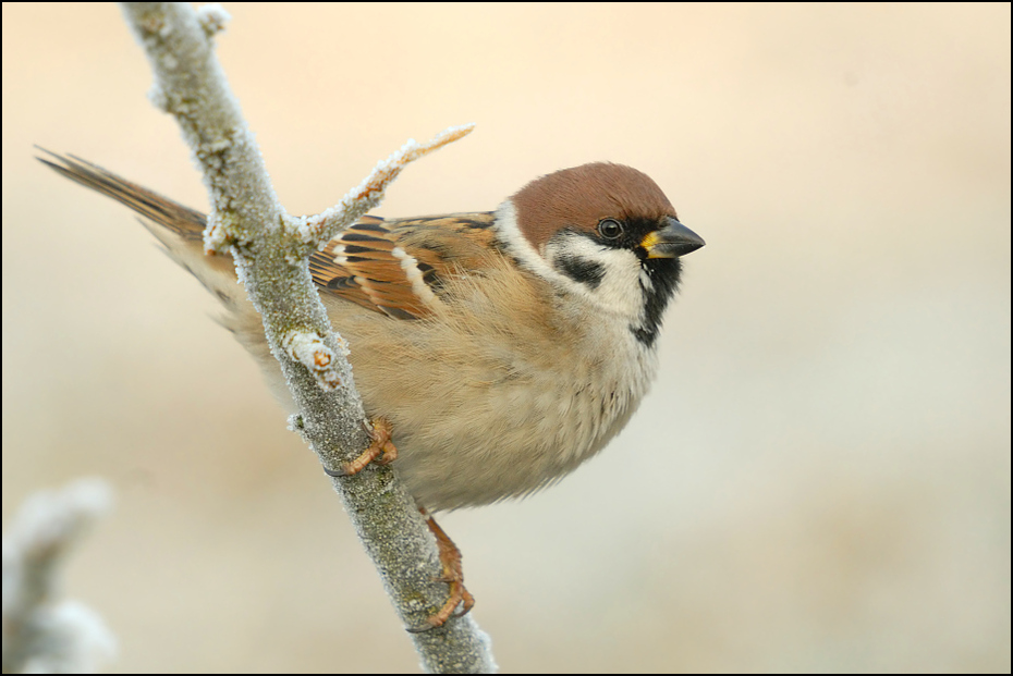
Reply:
[[[475, 122], [381, 216], [636, 167], [707, 239], [599, 458], [444, 515], [508, 672], [1010, 671], [1010, 5], [248, 5], [218, 53], [292, 213]], [[33, 144], [202, 209], [112, 5], [3, 4], [3, 519], [115, 511], [65, 591], [117, 672], [412, 644], [215, 300]]]

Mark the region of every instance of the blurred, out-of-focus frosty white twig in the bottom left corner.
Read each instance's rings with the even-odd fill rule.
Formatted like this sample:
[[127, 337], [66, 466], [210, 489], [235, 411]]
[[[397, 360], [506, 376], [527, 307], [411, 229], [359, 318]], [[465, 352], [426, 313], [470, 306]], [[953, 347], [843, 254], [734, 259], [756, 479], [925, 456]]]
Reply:
[[85, 674], [115, 654], [101, 618], [60, 601], [60, 566], [73, 544], [112, 502], [97, 479], [38, 492], [3, 536], [3, 673]]

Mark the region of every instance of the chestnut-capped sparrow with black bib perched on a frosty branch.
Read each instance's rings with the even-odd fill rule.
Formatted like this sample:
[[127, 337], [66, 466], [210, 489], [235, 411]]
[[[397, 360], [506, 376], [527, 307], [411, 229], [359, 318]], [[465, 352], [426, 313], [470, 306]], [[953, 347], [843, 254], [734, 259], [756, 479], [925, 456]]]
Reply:
[[[231, 256], [204, 253], [207, 217], [45, 152], [38, 159], [60, 174], [145, 217], [291, 402]], [[410, 630], [442, 626], [475, 603], [460, 550], [432, 513], [528, 495], [601, 451], [657, 376], [681, 259], [704, 244], [647, 174], [591, 162], [527, 183], [495, 211], [365, 216], [310, 256], [374, 427], [370, 447], [338, 474], [393, 460], [449, 583], [444, 605]]]

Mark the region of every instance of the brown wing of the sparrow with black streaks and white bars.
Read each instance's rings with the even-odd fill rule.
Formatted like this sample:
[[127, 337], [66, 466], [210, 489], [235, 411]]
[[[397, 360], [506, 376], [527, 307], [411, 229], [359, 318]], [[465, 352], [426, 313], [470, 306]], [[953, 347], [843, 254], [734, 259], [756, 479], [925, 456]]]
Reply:
[[418, 319], [441, 300], [444, 280], [481, 268], [495, 247], [491, 212], [416, 219], [364, 217], [309, 259], [313, 281], [395, 319]]

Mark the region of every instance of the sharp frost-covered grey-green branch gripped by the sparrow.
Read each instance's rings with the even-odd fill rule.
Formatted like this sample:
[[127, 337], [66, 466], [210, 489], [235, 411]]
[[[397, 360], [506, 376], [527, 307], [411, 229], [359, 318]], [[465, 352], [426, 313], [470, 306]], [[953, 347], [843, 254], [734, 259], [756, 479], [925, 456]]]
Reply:
[[[293, 218], [274, 195], [213, 53], [211, 38], [228, 19], [224, 11], [211, 5], [195, 12], [185, 3], [123, 8], [155, 71], [151, 99], [180, 123], [203, 169], [211, 197], [205, 246], [232, 253], [300, 408], [293, 427], [325, 467], [340, 468], [369, 445], [369, 438], [346, 348], [330, 327], [307, 257], [337, 229], [375, 207], [406, 162], [469, 127], [449, 130], [429, 144], [408, 144], [337, 207], [319, 217]], [[446, 601], [447, 585], [435, 579], [437, 549], [411, 495], [385, 467], [333, 481], [402, 620], [422, 625]], [[342, 580], [320, 585], [337, 595]], [[495, 668], [488, 638], [469, 616], [411, 636], [427, 671]]]

